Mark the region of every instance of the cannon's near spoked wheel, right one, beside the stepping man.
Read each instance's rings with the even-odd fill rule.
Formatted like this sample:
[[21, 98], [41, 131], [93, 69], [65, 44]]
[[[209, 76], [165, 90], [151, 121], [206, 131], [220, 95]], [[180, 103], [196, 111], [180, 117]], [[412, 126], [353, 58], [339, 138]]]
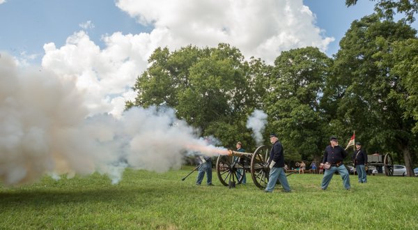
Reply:
[[251, 157], [251, 177], [254, 185], [260, 189], [267, 187], [270, 168], [268, 167], [268, 158], [270, 149], [268, 146], [260, 146]]

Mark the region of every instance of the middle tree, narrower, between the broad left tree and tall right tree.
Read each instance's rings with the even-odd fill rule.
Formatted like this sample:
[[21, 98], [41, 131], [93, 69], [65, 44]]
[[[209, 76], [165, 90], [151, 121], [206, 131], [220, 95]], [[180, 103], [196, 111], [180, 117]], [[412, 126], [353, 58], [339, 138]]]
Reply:
[[278, 132], [291, 160], [322, 154], [324, 119], [319, 100], [332, 59], [314, 47], [282, 52], [274, 61], [265, 111], [270, 132]]

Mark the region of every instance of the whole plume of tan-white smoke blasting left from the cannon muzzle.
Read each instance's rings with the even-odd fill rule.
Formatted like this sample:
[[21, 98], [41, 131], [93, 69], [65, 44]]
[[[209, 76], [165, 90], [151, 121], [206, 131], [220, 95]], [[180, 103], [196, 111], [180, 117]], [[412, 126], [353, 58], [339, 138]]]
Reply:
[[180, 168], [187, 151], [226, 154], [176, 118], [173, 109], [133, 108], [115, 118], [88, 116], [75, 82], [52, 72], [17, 68], [0, 57], [0, 181], [20, 185], [45, 174], [95, 171], [112, 183], [123, 169]]

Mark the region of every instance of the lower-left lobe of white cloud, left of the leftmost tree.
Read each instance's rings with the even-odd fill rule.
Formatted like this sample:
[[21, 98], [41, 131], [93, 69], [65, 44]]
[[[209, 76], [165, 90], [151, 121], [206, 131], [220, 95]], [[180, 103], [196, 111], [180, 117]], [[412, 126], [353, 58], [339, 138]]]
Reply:
[[84, 103], [90, 114], [111, 112], [121, 116], [125, 100], [135, 93], [130, 87], [145, 70], [149, 35], [114, 33], [104, 38], [105, 49], [95, 45], [84, 31], [70, 36], [65, 45], [44, 45], [42, 67], [63, 79], [72, 79], [85, 92]]

